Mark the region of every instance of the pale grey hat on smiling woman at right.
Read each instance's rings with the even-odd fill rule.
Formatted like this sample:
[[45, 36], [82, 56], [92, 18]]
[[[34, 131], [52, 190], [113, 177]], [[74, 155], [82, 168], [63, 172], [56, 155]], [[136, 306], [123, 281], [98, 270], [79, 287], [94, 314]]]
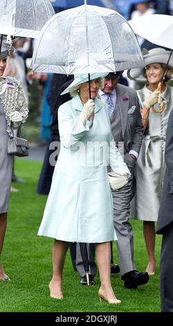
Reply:
[[[147, 51], [144, 49], [143, 58], [145, 61], [145, 66], [150, 65], [152, 63], [163, 63], [167, 65], [167, 61], [170, 58], [171, 51], [167, 51], [163, 48], [154, 48], [152, 50]], [[173, 55], [171, 55], [170, 61], [168, 63], [168, 68], [173, 69]], [[146, 82], [145, 77], [145, 68], [133, 68], [127, 71], [127, 76], [132, 80], [137, 80], [139, 82]]]

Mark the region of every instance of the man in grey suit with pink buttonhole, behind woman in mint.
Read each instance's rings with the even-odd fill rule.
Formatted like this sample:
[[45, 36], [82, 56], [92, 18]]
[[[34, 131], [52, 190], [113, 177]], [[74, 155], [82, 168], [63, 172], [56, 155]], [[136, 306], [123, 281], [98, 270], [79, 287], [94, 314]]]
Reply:
[[117, 145], [120, 141], [124, 142], [124, 160], [131, 172], [128, 184], [120, 190], [112, 191], [112, 196], [120, 274], [126, 288], [136, 289], [149, 280], [146, 272], [136, 271], [133, 232], [129, 223], [130, 202], [134, 196], [134, 166], [143, 139], [143, 124], [136, 91], [118, 84], [120, 74], [121, 72], [107, 75], [99, 96], [108, 105], [113, 139]]

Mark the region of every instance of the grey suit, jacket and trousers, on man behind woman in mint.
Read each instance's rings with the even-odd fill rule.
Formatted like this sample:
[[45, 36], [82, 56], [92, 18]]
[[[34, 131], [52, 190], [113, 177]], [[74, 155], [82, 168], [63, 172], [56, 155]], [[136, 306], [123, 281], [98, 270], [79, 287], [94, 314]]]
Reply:
[[131, 171], [128, 184], [118, 191], [112, 191], [113, 222], [117, 234], [120, 274], [136, 269], [134, 265], [133, 232], [129, 223], [130, 202], [134, 195], [134, 166], [136, 160], [129, 151], [140, 152], [143, 140], [143, 124], [138, 96], [134, 89], [118, 84], [116, 86], [116, 108], [111, 118], [113, 139], [124, 141], [124, 159]]

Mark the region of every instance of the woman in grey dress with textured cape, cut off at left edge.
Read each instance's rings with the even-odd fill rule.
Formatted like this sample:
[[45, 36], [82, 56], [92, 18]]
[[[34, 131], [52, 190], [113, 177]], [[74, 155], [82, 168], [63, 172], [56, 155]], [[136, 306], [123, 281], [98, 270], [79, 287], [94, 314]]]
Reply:
[[7, 153], [8, 137], [12, 134], [12, 128], [17, 128], [28, 116], [28, 107], [21, 84], [15, 78], [2, 77], [9, 51], [10, 46], [3, 41], [0, 54], [0, 280], [10, 280], [1, 265], [13, 162], [12, 155]]

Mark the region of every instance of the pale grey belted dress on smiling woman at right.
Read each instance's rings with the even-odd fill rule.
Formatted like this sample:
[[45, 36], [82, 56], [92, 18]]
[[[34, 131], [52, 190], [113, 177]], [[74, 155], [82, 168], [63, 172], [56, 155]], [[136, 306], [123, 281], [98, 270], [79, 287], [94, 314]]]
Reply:
[[[137, 91], [140, 105], [151, 94], [147, 87]], [[173, 87], [161, 94], [166, 102], [161, 113], [149, 111], [149, 120], [140, 155], [136, 162], [136, 195], [131, 203], [131, 217], [142, 221], [157, 221], [161, 189], [165, 173], [165, 136], [167, 121], [173, 108]]]

